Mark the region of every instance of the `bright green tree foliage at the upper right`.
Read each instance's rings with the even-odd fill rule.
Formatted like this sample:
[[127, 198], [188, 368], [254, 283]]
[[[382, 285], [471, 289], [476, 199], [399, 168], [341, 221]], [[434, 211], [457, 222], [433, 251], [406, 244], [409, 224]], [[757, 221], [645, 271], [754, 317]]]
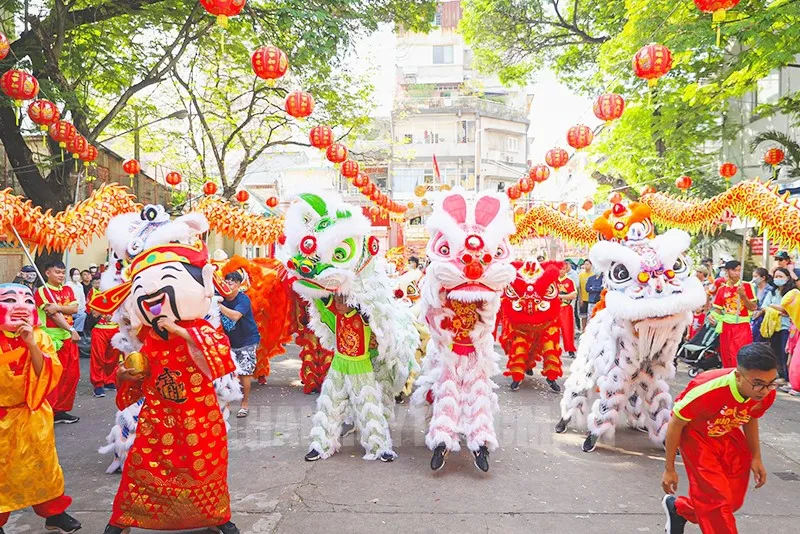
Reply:
[[[462, 28], [477, 63], [506, 82], [551, 68], [591, 97], [621, 93], [623, 117], [592, 145], [597, 170], [630, 184], [673, 188], [682, 174], [693, 194], [724, 187], [721, 141], [743, 127], [726, 120], [731, 101], [800, 53], [800, 2], [742, 0], [716, 46], [711, 15], [690, 0], [467, 0]], [[668, 46], [672, 71], [649, 90], [631, 60], [651, 42]], [[587, 110], [587, 119], [592, 117]], [[564, 132], [566, 134], [566, 132]]]

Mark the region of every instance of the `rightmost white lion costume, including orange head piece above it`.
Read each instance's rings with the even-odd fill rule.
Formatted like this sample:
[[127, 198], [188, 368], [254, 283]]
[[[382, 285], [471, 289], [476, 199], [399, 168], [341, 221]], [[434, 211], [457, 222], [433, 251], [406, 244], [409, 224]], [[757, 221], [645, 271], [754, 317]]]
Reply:
[[624, 421], [663, 445], [672, 410], [667, 381], [691, 311], [705, 301], [683, 257], [689, 235], [672, 229], [654, 237], [650, 209], [636, 202], [614, 205], [594, 228], [605, 239], [589, 252], [604, 276], [605, 308], [581, 336], [556, 432], [570, 421], [588, 426], [582, 448], [591, 452]]

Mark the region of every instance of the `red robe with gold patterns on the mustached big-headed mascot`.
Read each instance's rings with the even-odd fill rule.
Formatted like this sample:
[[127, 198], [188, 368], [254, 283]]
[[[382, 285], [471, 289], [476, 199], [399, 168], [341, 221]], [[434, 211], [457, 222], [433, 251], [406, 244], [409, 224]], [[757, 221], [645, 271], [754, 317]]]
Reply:
[[228, 438], [212, 380], [234, 370], [224, 334], [202, 319], [179, 323], [197, 351], [148, 329], [149, 373], [122, 381], [117, 406], [145, 398], [110, 523], [183, 530], [230, 520]]

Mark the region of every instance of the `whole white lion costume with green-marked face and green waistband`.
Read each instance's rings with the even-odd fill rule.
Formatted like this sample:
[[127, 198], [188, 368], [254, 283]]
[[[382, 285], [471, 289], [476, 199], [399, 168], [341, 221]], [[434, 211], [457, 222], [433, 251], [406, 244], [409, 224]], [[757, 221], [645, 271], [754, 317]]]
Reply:
[[292, 288], [307, 302], [320, 343], [334, 353], [305, 458], [334, 454], [352, 416], [364, 459], [390, 462], [396, 457], [389, 434], [394, 398], [416, 366], [419, 335], [411, 313], [394, 301], [376, 258], [378, 240], [358, 208], [314, 194], [295, 199], [285, 233], [281, 254]]

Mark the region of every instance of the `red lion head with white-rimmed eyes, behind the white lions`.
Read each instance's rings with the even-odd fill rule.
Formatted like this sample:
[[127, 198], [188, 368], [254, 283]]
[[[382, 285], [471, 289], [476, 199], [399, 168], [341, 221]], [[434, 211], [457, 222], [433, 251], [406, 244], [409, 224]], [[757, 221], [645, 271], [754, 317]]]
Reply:
[[517, 277], [503, 292], [504, 316], [513, 323], [543, 324], [558, 316], [558, 273], [564, 265], [558, 261], [512, 263]]

